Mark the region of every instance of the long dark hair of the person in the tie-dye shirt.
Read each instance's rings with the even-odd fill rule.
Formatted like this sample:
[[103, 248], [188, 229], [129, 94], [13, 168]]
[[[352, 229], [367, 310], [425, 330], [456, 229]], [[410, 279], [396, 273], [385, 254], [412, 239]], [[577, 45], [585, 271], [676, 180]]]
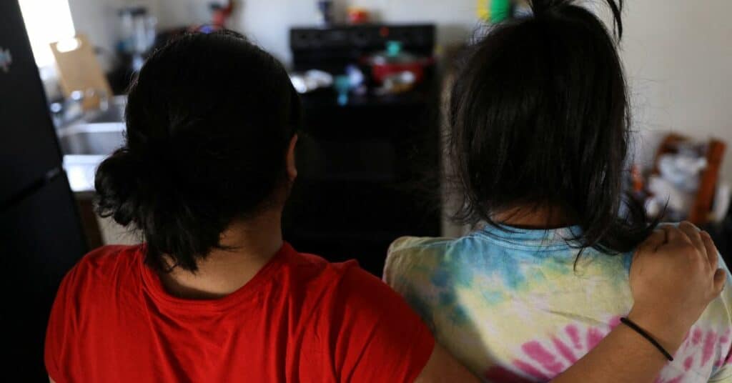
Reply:
[[496, 212], [559, 207], [582, 228], [572, 240], [610, 253], [652, 231], [641, 204], [624, 200], [622, 1], [607, 3], [616, 40], [571, 0], [534, 0], [533, 15], [496, 25], [471, 48], [449, 103], [460, 220], [498, 226]]

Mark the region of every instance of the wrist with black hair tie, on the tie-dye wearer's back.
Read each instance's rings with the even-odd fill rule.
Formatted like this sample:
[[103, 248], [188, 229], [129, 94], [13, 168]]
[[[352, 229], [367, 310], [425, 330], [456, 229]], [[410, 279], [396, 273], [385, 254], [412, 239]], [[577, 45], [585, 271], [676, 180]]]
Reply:
[[676, 318], [660, 317], [653, 308], [633, 306], [627, 318], [653, 337], [667, 352], [674, 354], [684, 342], [691, 327]]

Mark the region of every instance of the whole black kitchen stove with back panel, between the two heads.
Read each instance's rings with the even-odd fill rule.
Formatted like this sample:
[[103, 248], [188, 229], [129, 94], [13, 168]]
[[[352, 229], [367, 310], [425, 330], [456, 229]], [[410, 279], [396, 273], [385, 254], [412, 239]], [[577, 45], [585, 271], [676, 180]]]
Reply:
[[[349, 64], [370, 78], [363, 57], [389, 40], [433, 56], [435, 27], [419, 25], [295, 28], [294, 70], [343, 74]], [[357, 259], [381, 276], [386, 249], [404, 235], [438, 236], [439, 89], [436, 71], [399, 94], [353, 93], [345, 105], [332, 89], [302, 94], [305, 124], [299, 177], [285, 210], [285, 238], [330, 261]]]

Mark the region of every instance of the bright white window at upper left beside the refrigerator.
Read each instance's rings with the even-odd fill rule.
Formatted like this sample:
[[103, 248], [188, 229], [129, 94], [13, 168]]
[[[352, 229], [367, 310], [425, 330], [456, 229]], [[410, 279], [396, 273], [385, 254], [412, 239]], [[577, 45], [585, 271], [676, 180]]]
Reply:
[[40, 68], [53, 66], [51, 42], [74, 37], [68, 0], [20, 0], [33, 56]]

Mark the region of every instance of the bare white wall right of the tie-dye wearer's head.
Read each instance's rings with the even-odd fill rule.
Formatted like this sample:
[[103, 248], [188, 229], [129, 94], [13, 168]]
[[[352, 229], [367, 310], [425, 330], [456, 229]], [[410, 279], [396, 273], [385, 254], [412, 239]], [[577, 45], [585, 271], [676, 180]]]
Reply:
[[[732, 12], [729, 0], [626, 1], [622, 56], [647, 161], [668, 130], [732, 145]], [[732, 181], [732, 148], [722, 174]]]

